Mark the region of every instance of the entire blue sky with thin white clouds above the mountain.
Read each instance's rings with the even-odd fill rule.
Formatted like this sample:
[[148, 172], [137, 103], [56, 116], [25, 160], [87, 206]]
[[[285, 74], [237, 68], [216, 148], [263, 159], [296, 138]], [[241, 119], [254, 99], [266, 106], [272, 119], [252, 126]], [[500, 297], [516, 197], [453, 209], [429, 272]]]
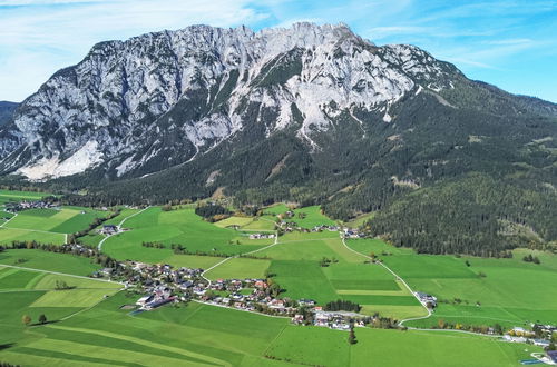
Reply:
[[469, 78], [557, 102], [557, 0], [0, 0], [0, 100], [21, 101], [99, 41], [206, 23], [349, 24]]

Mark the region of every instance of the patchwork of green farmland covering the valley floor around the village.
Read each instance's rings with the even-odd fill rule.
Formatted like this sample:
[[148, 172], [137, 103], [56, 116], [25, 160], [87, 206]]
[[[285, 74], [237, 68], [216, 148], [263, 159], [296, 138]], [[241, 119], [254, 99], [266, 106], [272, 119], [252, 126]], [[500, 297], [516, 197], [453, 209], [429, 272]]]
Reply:
[[[195, 215], [193, 206], [170, 211], [150, 207], [141, 212], [125, 208], [107, 224], [137, 215], [125, 221], [125, 232], [104, 242], [102, 252], [119, 260], [176, 267], [208, 269], [218, 264], [205, 274], [208, 279], [270, 276], [283, 288], [278, 297], [314, 299], [322, 306], [351, 300], [362, 306], [361, 314], [379, 313], [398, 320], [426, 316], [405, 280], [413, 290], [440, 300], [431, 317], [404, 324], [413, 327], [429, 328], [441, 320], [505, 327], [557, 323], [555, 255], [526, 249], [514, 250], [512, 259], [417, 255], [379, 239], [346, 240], [346, 247], [338, 231], [289, 232], [276, 244], [247, 238], [251, 231], [273, 230], [273, 216], [283, 209], [287, 207], [277, 205], [265, 209], [262, 218], [231, 217], [211, 224]], [[319, 207], [296, 210], [306, 214], [303, 219], [294, 217], [303, 227], [334, 224]], [[67, 231], [86, 228], [107, 214], [76, 207], [27, 210], [0, 228], [0, 241], [35, 234], [30, 239], [47, 241], [52, 236], [51, 241], [63, 242]], [[226, 228], [233, 225], [240, 230]], [[97, 246], [102, 238], [91, 232], [80, 239]], [[146, 247], [144, 241], [160, 242], [164, 248]], [[172, 244], [203, 255], [178, 255]], [[254, 258], [223, 257], [245, 252]], [[529, 254], [541, 264], [522, 261]], [[370, 262], [365, 257], [370, 255], [400, 278]], [[131, 314], [120, 307], [135, 304], [141, 292], [76, 277], [99, 268], [86, 257], [38, 249], [0, 252], [0, 361], [26, 366], [517, 366], [541, 350], [449, 330], [369, 327], [356, 327], [358, 344], [350, 345], [345, 331], [294, 326], [290, 318], [197, 301]], [[71, 289], [56, 289], [60, 280]], [[49, 323], [33, 324], [41, 314]], [[31, 325], [21, 323], [23, 315], [32, 318]]]

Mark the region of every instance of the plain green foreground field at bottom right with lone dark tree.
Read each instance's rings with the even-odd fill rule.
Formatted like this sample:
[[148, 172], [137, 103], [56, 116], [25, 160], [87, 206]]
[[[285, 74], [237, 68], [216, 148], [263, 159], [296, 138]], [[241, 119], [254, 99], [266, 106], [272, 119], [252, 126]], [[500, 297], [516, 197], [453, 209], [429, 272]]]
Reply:
[[[348, 333], [290, 326], [267, 355], [293, 364], [323, 366], [517, 366], [536, 347], [505, 344], [487, 337], [355, 329], [358, 344]], [[403, 350], [403, 351], [402, 351]]]

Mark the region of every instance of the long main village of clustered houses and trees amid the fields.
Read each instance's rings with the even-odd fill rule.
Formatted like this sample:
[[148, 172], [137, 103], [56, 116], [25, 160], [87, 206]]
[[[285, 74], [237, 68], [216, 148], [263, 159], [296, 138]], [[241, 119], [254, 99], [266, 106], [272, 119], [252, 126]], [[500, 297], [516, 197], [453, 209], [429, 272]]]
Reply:
[[169, 304], [198, 301], [243, 311], [291, 317], [296, 325], [315, 325], [339, 330], [352, 326], [365, 326], [372, 317], [346, 311], [328, 311], [312, 299], [292, 300], [278, 298], [276, 284], [267, 279], [217, 279], [211, 281], [203, 269], [173, 268], [169, 265], [148, 265], [137, 261], [118, 262], [118, 267], [105, 268], [95, 277], [126, 280], [128, 290], [141, 294], [135, 305], [123, 305], [137, 313], [154, 310]]

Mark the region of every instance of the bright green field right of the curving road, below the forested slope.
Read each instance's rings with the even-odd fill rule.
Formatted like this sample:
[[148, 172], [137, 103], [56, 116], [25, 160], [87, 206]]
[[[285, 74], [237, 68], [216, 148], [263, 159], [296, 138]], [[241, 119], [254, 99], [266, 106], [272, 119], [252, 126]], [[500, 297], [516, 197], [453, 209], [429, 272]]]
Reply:
[[[557, 257], [554, 255], [518, 249], [512, 259], [458, 258], [416, 255], [380, 240], [350, 240], [349, 245], [364, 254], [377, 254], [412, 289], [441, 300], [431, 318], [411, 321], [410, 326], [430, 327], [439, 319], [470, 325], [497, 323], [507, 327], [532, 321], [557, 323], [557, 288], [553, 286], [557, 284]], [[382, 252], [392, 255], [382, 256]], [[541, 264], [524, 262], [526, 254], [538, 256]]]

